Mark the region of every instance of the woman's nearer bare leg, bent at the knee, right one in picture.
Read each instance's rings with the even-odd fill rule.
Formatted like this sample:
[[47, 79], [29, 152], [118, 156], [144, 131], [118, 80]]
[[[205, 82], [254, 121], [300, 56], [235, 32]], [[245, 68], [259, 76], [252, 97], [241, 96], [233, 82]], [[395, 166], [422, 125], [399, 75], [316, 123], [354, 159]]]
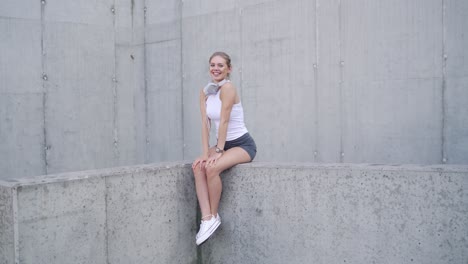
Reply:
[[216, 165], [206, 168], [206, 179], [208, 183], [208, 193], [210, 201], [211, 214], [216, 216], [218, 213], [219, 200], [223, 189], [221, 177], [219, 174], [226, 169], [240, 163], [249, 162], [250, 156], [244, 149], [240, 147], [231, 148], [217, 160]]

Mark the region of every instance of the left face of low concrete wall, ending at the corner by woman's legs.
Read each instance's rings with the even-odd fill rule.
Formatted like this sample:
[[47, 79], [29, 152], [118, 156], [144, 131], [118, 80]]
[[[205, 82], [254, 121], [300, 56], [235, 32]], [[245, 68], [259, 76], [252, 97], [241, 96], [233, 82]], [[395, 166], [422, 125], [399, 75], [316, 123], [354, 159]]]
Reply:
[[195, 263], [189, 171], [157, 164], [0, 181], [1, 263]]

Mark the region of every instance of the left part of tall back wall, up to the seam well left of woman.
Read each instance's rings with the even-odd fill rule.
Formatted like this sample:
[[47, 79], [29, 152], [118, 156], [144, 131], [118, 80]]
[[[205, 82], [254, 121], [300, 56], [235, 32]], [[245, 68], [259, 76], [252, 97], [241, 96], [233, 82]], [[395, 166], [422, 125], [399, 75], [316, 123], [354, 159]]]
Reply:
[[143, 1], [1, 1], [1, 178], [144, 163]]

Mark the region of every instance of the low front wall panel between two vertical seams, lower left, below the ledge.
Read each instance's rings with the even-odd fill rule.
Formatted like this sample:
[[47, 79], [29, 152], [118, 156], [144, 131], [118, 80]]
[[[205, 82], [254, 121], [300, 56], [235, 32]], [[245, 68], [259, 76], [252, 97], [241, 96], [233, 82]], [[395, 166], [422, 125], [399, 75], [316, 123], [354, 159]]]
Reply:
[[18, 187], [19, 263], [105, 263], [103, 178]]

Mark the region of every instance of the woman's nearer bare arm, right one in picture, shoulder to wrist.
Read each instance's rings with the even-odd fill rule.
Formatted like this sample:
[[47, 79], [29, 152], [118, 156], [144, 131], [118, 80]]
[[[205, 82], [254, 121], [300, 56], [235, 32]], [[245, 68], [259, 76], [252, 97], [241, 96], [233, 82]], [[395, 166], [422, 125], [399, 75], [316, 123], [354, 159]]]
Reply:
[[220, 149], [224, 149], [229, 118], [231, 117], [232, 106], [236, 102], [237, 92], [236, 88], [231, 83], [226, 83], [221, 89], [221, 119], [219, 122], [218, 142], [216, 146]]

